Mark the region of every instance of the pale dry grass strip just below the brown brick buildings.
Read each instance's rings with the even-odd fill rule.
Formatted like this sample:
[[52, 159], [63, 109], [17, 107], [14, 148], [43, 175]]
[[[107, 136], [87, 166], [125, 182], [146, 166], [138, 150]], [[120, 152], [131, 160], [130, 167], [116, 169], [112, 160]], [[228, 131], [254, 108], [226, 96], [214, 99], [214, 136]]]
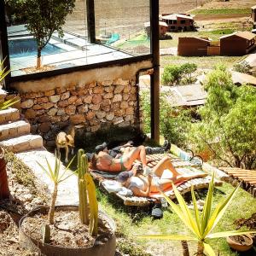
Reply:
[[175, 64], [195, 63], [198, 68], [211, 69], [216, 64], [224, 64], [226, 67], [232, 67], [236, 62], [243, 60], [245, 56], [203, 56], [203, 57], [183, 57], [183, 56], [161, 56], [160, 67]]

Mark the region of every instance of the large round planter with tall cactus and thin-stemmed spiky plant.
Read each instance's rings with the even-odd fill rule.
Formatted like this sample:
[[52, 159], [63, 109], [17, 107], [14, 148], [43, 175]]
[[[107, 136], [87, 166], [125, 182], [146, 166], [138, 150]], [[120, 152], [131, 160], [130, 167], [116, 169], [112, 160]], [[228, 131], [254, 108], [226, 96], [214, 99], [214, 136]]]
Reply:
[[39, 165], [55, 183], [50, 207], [38, 207], [20, 219], [20, 244], [50, 256], [114, 255], [115, 225], [105, 213], [98, 212], [96, 188], [84, 150], [79, 150], [78, 157], [79, 206], [55, 207], [58, 184], [73, 175], [65, 176], [71, 163], [60, 174], [59, 157], [55, 156], [54, 169], [46, 161], [48, 169]]

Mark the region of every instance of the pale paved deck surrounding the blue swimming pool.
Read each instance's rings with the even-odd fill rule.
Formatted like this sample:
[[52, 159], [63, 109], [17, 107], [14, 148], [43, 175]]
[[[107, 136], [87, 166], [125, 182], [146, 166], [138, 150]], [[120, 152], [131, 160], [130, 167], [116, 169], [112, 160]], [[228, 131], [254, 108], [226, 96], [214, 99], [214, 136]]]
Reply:
[[[26, 38], [28, 34], [25, 26], [9, 26], [8, 33], [9, 38], [12, 39]], [[133, 56], [106, 45], [90, 44], [86, 38], [67, 32], [64, 33], [63, 38], [59, 38], [58, 34], [54, 33], [49, 44], [67, 50], [63, 53], [42, 56], [43, 65], [52, 65], [55, 69], [115, 61]], [[12, 76], [26, 74], [24, 68], [35, 67], [36, 63], [36, 55], [10, 58]]]

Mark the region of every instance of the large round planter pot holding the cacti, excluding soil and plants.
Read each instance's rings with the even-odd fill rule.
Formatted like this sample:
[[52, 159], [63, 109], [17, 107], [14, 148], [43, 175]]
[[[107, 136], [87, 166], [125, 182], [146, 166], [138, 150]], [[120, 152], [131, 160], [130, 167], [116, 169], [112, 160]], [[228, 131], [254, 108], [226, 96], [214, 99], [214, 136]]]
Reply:
[[[43, 253], [44, 255], [49, 256], [113, 256], [115, 254], [116, 248], [116, 237], [114, 235], [115, 224], [112, 218], [108, 217], [108, 215], [104, 212], [99, 212], [99, 224], [104, 220], [104, 222], [108, 222], [111, 230], [109, 230], [108, 239], [104, 242], [95, 242], [91, 247], [61, 247], [61, 246], [53, 246], [47, 243], [43, 243], [42, 241], [38, 241], [33, 239], [31, 236], [27, 235], [22, 229], [23, 221], [29, 217], [33, 216], [37, 213], [47, 214], [49, 207], [37, 207], [36, 209], [28, 212], [23, 218], [20, 219], [19, 223], [19, 241], [22, 247], [30, 249], [34, 252], [38, 251]], [[55, 207], [55, 211], [79, 211], [78, 206], [60, 206]], [[38, 227], [37, 227], [38, 228]]]

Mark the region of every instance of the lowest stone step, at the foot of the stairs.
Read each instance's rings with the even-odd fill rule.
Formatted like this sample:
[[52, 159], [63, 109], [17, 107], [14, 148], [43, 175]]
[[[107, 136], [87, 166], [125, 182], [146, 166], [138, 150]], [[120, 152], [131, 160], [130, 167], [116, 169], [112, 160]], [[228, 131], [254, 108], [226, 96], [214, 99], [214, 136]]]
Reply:
[[0, 145], [9, 148], [14, 153], [19, 153], [35, 148], [42, 148], [43, 138], [39, 135], [28, 134], [4, 140], [0, 142]]

